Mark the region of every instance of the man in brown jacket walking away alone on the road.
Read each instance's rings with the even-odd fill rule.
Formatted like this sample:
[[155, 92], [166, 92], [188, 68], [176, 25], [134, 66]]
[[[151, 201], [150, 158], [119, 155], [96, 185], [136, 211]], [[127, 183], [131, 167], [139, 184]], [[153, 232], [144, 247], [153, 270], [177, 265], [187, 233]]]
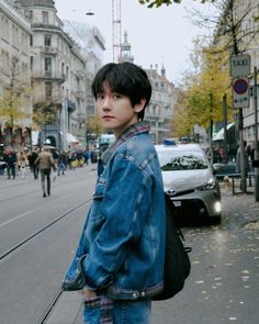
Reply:
[[56, 170], [56, 165], [53, 155], [48, 148], [43, 148], [34, 161], [41, 172], [43, 197], [46, 197], [45, 178], [47, 179], [47, 194], [50, 195], [50, 174], [52, 168]]

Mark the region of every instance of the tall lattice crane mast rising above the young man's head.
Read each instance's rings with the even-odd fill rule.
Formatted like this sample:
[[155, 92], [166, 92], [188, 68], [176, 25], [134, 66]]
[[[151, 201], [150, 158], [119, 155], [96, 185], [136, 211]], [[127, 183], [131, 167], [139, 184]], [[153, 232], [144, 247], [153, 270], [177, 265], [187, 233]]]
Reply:
[[122, 56], [122, 8], [121, 0], [112, 0], [112, 43], [113, 62], [120, 62]]

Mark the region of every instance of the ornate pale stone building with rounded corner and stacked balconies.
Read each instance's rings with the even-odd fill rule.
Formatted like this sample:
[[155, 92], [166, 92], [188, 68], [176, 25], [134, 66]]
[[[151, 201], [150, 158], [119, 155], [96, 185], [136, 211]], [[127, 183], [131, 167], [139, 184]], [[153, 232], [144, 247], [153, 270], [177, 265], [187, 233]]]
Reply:
[[[67, 134], [86, 142], [86, 62], [67, 35], [53, 0], [12, 1], [31, 23], [31, 75], [41, 144], [67, 149]], [[40, 113], [41, 112], [41, 113]], [[70, 137], [69, 137], [70, 138]]]

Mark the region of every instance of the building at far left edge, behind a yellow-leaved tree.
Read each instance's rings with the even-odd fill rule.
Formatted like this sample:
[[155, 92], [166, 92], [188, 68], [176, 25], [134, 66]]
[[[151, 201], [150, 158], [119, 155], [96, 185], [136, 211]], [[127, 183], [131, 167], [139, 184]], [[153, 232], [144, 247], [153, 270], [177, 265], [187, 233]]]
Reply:
[[30, 145], [30, 23], [0, 0], [0, 144], [5, 146]]

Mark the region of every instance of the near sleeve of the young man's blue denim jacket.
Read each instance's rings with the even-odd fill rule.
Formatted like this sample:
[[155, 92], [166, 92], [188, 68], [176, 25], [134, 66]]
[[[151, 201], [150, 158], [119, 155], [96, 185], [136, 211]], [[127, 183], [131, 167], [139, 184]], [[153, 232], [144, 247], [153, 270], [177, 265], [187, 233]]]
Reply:
[[151, 179], [133, 160], [115, 158], [102, 199], [103, 224], [83, 260], [90, 289], [112, 283], [140, 236], [150, 210]]

